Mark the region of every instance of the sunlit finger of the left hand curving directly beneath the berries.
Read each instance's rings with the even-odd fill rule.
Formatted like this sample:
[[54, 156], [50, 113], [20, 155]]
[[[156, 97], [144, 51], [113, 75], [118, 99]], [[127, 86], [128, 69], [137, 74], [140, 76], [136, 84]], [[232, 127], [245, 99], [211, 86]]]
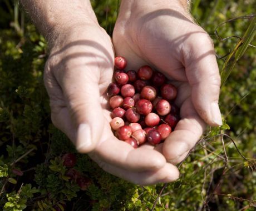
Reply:
[[156, 150], [143, 147], [134, 149], [130, 144], [114, 137], [107, 123], [103, 134], [96, 149], [90, 153], [91, 157], [137, 172], [160, 169], [166, 163], [164, 155]]

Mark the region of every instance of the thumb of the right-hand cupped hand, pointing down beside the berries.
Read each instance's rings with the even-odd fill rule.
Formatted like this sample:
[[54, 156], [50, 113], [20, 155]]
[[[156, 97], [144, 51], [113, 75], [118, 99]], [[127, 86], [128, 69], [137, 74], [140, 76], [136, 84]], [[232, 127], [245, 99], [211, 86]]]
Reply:
[[204, 121], [213, 126], [221, 125], [218, 105], [220, 75], [213, 43], [206, 32], [195, 33], [188, 43], [189, 53], [184, 53], [185, 71], [192, 87], [193, 105]]

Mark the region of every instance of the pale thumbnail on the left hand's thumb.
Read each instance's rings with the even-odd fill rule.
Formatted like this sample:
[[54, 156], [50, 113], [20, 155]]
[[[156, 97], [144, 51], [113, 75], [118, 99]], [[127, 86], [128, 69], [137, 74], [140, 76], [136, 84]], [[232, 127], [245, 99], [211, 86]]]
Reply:
[[77, 130], [77, 143], [76, 149], [80, 151], [81, 149], [86, 150], [91, 142], [91, 129], [88, 124], [80, 124]]

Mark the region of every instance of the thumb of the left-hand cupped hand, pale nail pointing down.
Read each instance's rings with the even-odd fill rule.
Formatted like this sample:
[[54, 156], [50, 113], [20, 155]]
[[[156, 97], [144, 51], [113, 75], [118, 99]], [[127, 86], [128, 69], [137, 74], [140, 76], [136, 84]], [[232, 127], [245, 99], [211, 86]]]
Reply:
[[80, 153], [91, 152], [99, 142], [104, 126], [99, 85], [90, 78], [80, 78], [75, 83], [68, 83], [63, 92], [76, 130], [76, 149]]

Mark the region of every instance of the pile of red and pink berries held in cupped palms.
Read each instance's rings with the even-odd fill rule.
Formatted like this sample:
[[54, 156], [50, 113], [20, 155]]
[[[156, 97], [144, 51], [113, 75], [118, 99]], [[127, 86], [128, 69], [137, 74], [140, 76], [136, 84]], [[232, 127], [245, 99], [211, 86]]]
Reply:
[[124, 57], [115, 58], [115, 82], [107, 89], [111, 128], [117, 138], [134, 148], [145, 142], [159, 144], [179, 120], [179, 108], [173, 103], [177, 89], [150, 66], [124, 71], [126, 64]]

